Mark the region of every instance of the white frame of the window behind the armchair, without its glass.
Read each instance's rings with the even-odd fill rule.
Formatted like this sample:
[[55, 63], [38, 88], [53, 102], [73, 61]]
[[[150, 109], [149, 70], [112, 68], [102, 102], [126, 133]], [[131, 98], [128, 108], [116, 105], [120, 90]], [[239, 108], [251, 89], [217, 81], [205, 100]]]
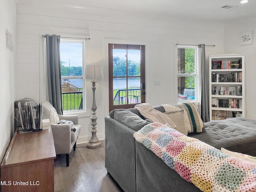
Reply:
[[[82, 44], [82, 75], [81, 76], [61, 76], [61, 79], [82, 79], [82, 97], [83, 97], [83, 109], [82, 110], [69, 110], [63, 111], [64, 115], [78, 115], [79, 117], [90, 116], [88, 110], [86, 110], [86, 83], [84, 79], [85, 73], [85, 65], [86, 65], [86, 40], [82, 40], [79, 38], [60, 38], [61, 42], [69, 42], [69, 43], [81, 43]], [[60, 58], [61, 59], [61, 58]]]

